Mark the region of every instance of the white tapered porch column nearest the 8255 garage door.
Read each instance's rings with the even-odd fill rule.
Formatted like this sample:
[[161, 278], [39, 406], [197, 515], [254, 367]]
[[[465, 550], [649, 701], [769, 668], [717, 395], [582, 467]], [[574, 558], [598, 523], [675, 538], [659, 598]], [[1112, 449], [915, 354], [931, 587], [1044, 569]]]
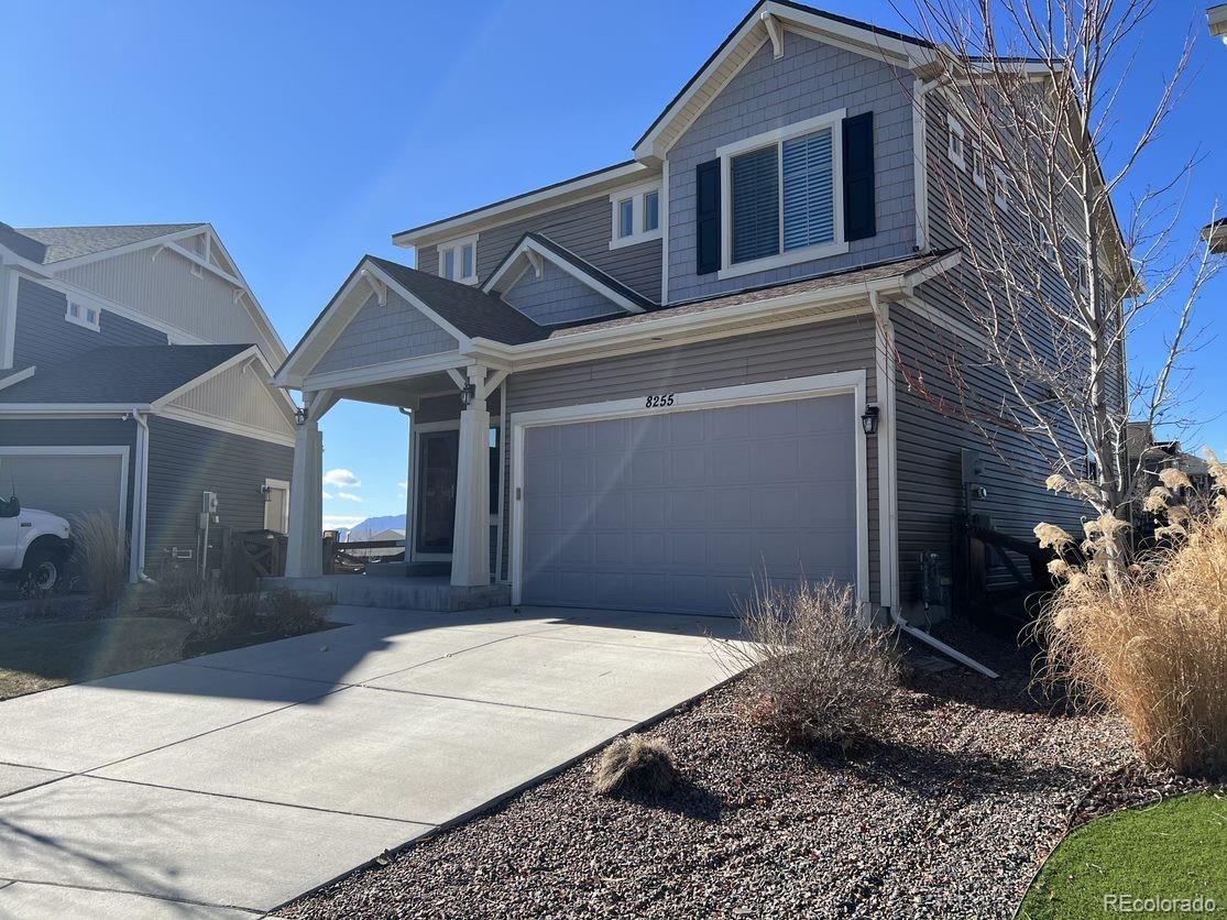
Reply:
[[452, 584], [490, 584], [490, 412], [486, 369], [469, 368], [476, 395], [460, 412], [456, 461], [456, 519], [452, 540]]

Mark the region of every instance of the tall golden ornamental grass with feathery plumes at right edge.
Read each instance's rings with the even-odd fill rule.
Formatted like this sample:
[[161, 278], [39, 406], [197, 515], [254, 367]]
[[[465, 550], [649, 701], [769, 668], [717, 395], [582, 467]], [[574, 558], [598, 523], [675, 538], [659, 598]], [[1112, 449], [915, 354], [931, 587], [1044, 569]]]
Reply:
[[[1221, 464], [1211, 470], [1227, 485]], [[1168, 520], [1157, 550], [1113, 574], [1088, 541], [1090, 562], [1052, 567], [1061, 581], [1036, 624], [1048, 651], [1040, 676], [1049, 687], [1064, 684], [1076, 700], [1120, 714], [1148, 762], [1221, 774], [1227, 772], [1227, 499], [1169, 504], [1168, 478], [1175, 477], [1147, 499], [1147, 509]]]

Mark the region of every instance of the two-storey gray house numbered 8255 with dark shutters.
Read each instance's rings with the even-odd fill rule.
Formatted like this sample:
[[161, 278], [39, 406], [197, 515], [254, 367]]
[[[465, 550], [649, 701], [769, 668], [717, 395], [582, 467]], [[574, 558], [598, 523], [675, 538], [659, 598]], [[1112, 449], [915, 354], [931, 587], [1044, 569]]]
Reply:
[[940, 390], [984, 348], [930, 186], [994, 204], [941, 75], [920, 39], [760, 2], [632, 159], [395, 234], [416, 269], [363, 258], [276, 377], [309, 407], [290, 572], [318, 572], [339, 399], [412, 412], [409, 572], [521, 604], [724, 612], [766, 573], [897, 613], [956, 514], [1076, 521], [1023, 439], [1004, 462], [899, 370]]

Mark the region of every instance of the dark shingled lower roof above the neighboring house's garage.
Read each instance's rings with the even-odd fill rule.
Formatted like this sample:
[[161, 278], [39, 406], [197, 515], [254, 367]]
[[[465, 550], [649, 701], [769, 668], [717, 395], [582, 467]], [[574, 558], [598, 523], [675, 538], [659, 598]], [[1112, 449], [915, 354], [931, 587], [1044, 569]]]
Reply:
[[64, 364], [36, 367], [0, 390], [0, 404], [145, 405], [212, 370], [250, 345], [145, 345], [93, 348]]

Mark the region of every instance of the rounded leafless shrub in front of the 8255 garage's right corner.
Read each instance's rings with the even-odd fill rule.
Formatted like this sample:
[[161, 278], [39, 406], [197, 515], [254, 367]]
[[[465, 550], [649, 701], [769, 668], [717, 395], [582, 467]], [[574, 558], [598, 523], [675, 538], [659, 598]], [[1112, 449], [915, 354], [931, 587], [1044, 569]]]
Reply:
[[893, 632], [861, 616], [833, 581], [760, 586], [740, 616], [748, 643], [729, 644], [748, 669], [746, 715], [790, 743], [848, 749], [872, 736], [901, 676]]

